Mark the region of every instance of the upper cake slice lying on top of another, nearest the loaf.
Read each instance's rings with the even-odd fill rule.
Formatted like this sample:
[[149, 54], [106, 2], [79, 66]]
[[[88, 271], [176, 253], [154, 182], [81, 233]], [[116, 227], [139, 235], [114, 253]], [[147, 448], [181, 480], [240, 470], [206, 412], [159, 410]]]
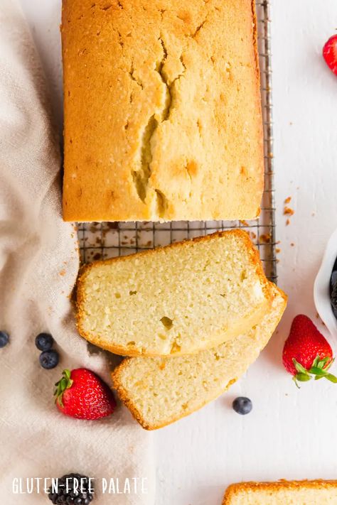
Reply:
[[249, 330], [271, 300], [248, 234], [218, 232], [85, 266], [77, 327], [116, 354], [189, 354]]

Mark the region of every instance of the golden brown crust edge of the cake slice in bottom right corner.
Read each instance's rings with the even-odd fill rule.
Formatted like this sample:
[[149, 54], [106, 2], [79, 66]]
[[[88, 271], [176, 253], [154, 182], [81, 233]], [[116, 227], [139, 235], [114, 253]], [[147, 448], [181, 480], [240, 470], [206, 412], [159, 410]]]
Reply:
[[255, 492], [272, 490], [278, 491], [279, 489], [326, 489], [328, 487], [337, 487], [337, 480], [285, 480], [280, 479], [277, 482], [239, 482], [237, 484], [230, 484], [226, 489], [225, 496], [223, 497], [223, 505], [230, 505], [232, 498], [237, 492]]

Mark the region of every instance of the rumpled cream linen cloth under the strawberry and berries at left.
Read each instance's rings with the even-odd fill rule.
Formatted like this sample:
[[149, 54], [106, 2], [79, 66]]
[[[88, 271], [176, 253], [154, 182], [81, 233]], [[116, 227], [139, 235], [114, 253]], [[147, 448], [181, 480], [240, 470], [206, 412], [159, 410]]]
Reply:
[[[63, 416], [53, 384], [63, 368], [85, 366], [109, 383], [107, 353], [88, 352], [75, 330], [70, 293], [78, 269], [76, 232], [61, 218], [60, 153], [50, 125], [43, 73], [21, 10], [0, 1], [0, 502], [51, 503], [12, 494], [14, 478], [97, 479], [97, 505], [154, 504], [151, 434], [120, 405], [103, 420]], [[60, 352], [41, 368], [34, 339], [50, 332]], [[110, 355], [112, 356], [112, 355]], [[147, 478], [148, 494], [105, 494], [100, 479]], [[23, 480], [23, 491], [26, 487]]]

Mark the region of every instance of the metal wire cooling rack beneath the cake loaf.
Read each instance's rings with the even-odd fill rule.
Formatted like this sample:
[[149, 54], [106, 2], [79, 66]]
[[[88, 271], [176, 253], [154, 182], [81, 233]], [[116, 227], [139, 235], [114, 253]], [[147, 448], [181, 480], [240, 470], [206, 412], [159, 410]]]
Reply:
[[78, 229], [82, 261], [126, 256], [172, 242], [192, 239], [218, 230], [245, 229], [260, 250], [264, 271], [277, 281], [274, 224], [274, 175], [272, 134], [272, 70], [269, 36], [269, 0], [257, 1], [262, 116], [264, 124], [264, 194], [259, 219], [244, 221], [180, 221], [81, 223]]

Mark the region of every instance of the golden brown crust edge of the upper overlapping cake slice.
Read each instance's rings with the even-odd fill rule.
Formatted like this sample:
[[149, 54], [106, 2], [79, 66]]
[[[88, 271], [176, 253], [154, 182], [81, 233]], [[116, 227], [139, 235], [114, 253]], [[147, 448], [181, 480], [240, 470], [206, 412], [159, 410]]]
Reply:
[[[224, 237], [225, 235], [232, 234], [236, 237], [240, 237], [247, 248], [247, 251], [250, 254], [250, 259], [252, 261], [252, 264], [255, 265], [257, 276], [260, 278], [260, 282], [262, 284], [262, 290], [264, 292], [264, 298], [267, 300], [267, 304], [270, 306], [272, 304], [272, 299], [273, 299], [273, 294], [272, 290], [270, 289], [269, 282], [267, 281], [266, 276], [264, 275], [263, 271], [263, 266], [262, 266], [262, 261], [260, 260], [259, 252], [257, 251], [257, 248], [252, 244], [252, 241], [250, 240], [249, 234], [245, 232], [242, 229], [232, 229], [232, 230], [226, 230], [223, 232], [215, 232], [213, 234], [208, 234], [203, 237], [195, 237], [193, 239], [181, 241], [181, 242], [175, 242], [173, 244], [169, 244], [168, 246], [161, 246], [157, 247], [156, 249], [149, 249], [146, 251], [139, 251], [135, 254], [137, 255], [153, 255], [156, 254], [158, 251], [163, 250], [163, 249], [179, 249], [180, 247], [188, 244], [188, 243], [198, 243], [198, 242], [205, 242], [205, 241], [210, 241], [211, 239], [214, 239], [215, 237]], [[113, 352], [114, 354], [119, 354], [121, 356], [130, 356], [130, 357], [139, 357], [143, 356], [144, 354], [142, 352], [139, 352], [137, 349], [130, 349], [129, 347], [122, 347], [118, 346], [116, 344], [110, 344], [109, 342], [102, 342], [100, 339], [95, 337], [95, 335], [92, 335], [88, 332], [85, 331], [85, 329], [82, 326], [82, 320], [83, 320], [83, 315], [84, 315], [84, 310], [83, 310], [83, 305], [84, 305], [84, 284], [85, 284], [85, 278], [87, 274], [90, 272], [92, 268], [95, 268], [95, 266], [100, 266], [100, 265], [107, 265], [107, 264], [114, 264], [117, 261], [128, 261], [129, 256], [118, 256], [117, 258], [111, 258], [111, 259], [106, 259], [106, 260], [100, 260], [100, 261], [94, 261], [91, 264], [86, 264], [85, 266], [82, 266], [80, 269], [79, 276], [77, 278], [77, 314], [76, 314], [76, 325], [77, 325], [77, 330], [80, 333], [82, 337], [85, 338], [88, 342], [91, 342], [94, 345], [97, 345], [97, 347], [101, 347], [102, 349], [105, 349], [109, 352]], [[219, 342], [220, 343], [220, 342]], [[214, 344], [211, 342], [209, 347], [214, 347]], [[198, 352], [199, 349], [193, 349], [189, 354], [195, 354]], [[172, 354], [171, 356], [177, 356], [179, 353]], [[146, 352], [146, 356], [149, 357], [156, 357], [158, 354], [153, 353], [150, 351]], [[167, 357], [170, 357], [168, 354]]]

